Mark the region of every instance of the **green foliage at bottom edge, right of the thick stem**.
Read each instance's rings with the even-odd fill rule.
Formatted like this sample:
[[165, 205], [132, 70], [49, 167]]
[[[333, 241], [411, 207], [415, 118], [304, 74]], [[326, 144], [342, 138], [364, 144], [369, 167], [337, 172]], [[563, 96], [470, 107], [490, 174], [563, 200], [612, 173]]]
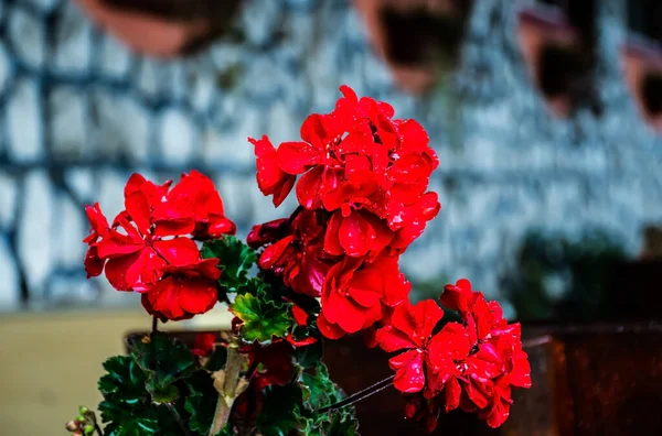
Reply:
[[353, 407], [318, 413], [342, 397], [329, 379], [327, 367], [319, 363], [314, 372], [301, 373], [296, 383], [267, 388], [258, 428], [264, 436], [286, 436], [290, 432], [310, 436], [357, 435]]

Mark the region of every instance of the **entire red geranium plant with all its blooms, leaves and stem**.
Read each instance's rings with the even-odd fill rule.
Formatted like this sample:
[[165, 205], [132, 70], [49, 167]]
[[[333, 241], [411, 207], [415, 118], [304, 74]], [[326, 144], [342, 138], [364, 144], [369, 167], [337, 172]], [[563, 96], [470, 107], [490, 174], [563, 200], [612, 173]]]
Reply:
[[[519, 324], [467, 280], [440, 303], [408, 302], [398, 259], [440, 209], [428, 181], [438, 160], [414, 120], [359, 99], [346, 86], [328, 115], [311, 115], [298, 142], [250, 139], [257, 183], [279, 206], [299, 206], [234, 237], [213, 183], [199, 172], [173, 185], [134, 174], [113, 221], [98, 204], [85, 268], [140, 294], [153, 317], [127, 339], [128, 356], [104, 363], [104, 401], [67, 423], [99, 435], [352, 435], [353, 405], [386, 388], [404, 416], [431, 432], [441, 411], [474, 412], [489, 426], [509, 416], [511, 388], [531, 386]], [[297, 179], [298, 178], [298, 179]], [[256, 265], [256, 268], [255, 268]], [[233, 328], [191, 346], [159, 331], [226, 303]], [[444, 323], [442, 323], [444, 318]], [[348, 395], [322, 362], [322, 342], [363, 335], [393, 353], [384, 380]], [[345, 371], [351, 372], [348, 364]]]

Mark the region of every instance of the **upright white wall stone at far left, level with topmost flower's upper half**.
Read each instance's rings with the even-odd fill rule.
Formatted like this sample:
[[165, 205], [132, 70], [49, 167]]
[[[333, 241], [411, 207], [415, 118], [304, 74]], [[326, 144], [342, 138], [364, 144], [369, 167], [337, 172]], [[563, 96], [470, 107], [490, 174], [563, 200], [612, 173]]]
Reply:
[[34, 161], [43, 156], [43, 120], [39, 94], [35, 81], [23, 79], [9, 97], [9, 154], [17, 162]]

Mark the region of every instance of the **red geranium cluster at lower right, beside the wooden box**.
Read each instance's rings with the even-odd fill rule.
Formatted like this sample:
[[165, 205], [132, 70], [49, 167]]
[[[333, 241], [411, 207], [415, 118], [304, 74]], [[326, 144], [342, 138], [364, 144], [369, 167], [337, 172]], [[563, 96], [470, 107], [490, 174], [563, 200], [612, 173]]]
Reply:
[[396, 371], [394, 385], [403, 393], [418, 393], [406, 412], [420, 417], [427, 411], [428, 429], [434, 428], [439, 403], [447, 412], [458, 406], [478, 412], [498, 427], [510, 413], [511, 386], [531, 386], [520, 324], [509, 325], [499, 304], [472, 292], [467, 280], [447, 285], [441, 303], [458, 310], [462, 323], [448, 323], [433, 335], [442, 312], [434, 301], [424, 301], [396, 307], [391, 323], [377, 331], [385, 351], [405, 350], [389, 360]]

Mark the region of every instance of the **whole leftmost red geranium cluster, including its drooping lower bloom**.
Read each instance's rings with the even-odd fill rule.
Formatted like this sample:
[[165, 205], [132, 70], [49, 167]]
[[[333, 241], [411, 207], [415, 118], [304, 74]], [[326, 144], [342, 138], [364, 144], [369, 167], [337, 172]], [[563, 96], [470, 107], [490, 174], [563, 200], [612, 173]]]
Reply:
[[98, 204], [87, 206], [92, 225], [84, 240], [88, 277], [106, 272], [118, 291], [142, 293], [142, 305], [163, 319], [186, 319], [216, 303], [217, 259], [202, 260], [195, 240], [233, 235], [235, 225], [211, 179], [196, 171], [179, 184], [156, 185], [134, 174], [125, 208], [108, 225]]

